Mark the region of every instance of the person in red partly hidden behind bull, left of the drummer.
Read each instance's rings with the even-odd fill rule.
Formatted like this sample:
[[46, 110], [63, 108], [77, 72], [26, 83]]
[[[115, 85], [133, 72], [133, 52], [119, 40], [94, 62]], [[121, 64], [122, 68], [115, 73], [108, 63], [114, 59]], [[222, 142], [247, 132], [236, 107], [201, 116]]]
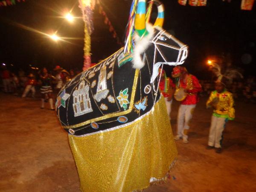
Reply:
[[159, 88], [161, 93], [164, 96], [165, 102], [166, 102], [166, 109], [169, 116], [169, 119], [171, 120], [171, 111], [172, 111], [172, 96], [174, 93], [175, 84], [173, 83], [172, 79], [169, 77], [166, 77], [165, 70], [159, 69], [159, 76], [160, 76], [160, 83]]

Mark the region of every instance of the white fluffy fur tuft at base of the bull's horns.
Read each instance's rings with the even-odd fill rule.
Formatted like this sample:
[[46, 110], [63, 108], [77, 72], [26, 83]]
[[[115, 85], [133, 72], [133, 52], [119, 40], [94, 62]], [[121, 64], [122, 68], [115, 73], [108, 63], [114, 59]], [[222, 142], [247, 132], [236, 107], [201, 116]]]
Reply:
[[144, 67], [145, 63], [141, 60], [140, 55], [148, 48], [154, 35], [154, 28], [151, 24], [146, 23], [146, 29], [148, 31], [148, 35], [144, 36], [143, 38], [136, 33], [134, 34], [135, 46], [133, 52], [133, 68], [135, 69], [141, 69]]

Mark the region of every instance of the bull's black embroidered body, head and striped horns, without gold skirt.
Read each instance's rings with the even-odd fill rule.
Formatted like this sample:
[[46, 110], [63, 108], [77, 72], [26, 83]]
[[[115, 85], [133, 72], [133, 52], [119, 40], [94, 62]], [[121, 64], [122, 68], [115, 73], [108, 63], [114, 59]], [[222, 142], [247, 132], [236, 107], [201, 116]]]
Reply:
[[145, 0], [139, 0], [134, 21], [134, 49], [119, 49], [66, 84], [57, 97], [61, 125], [79, 137], [123, 128], [151, 113], [159, 100], [158, 69], [183, 64], [187, 46], [164, 29], [163, 5], [152, 26], [145, 22]]

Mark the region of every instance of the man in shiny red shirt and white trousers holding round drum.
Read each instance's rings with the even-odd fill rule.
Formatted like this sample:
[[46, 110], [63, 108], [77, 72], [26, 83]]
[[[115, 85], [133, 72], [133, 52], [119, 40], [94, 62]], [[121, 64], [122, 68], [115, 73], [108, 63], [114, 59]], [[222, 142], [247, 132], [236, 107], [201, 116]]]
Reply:
[[180, 102], [177, 117], [177, 135], [175, 140], [183, 139], [188, 143], [189, 122], [192, 119], [195, 106], [199, 101], [198, 92], [202, 90], [198, 79], [189, 74], [185, 67], [176, 66], [173, 68], [172, 77], [177, 78], [176, 91], [183, 89], [184, 99]]

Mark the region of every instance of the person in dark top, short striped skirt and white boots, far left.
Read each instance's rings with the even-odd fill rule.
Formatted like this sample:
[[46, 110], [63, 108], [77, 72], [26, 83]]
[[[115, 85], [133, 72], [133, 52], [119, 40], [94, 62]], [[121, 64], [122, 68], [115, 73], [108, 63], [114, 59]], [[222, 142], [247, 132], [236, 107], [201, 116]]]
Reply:
[[52, 80], [55, 79], [54, 76], [51, 76], [47, 69], [44, 67], [42, 73], [39, 72], [41, 80], [41, 109], [44, 109], [44, 99], [49, 98], [50, 109], [54, 111], [53, 100], [52, 100]]

